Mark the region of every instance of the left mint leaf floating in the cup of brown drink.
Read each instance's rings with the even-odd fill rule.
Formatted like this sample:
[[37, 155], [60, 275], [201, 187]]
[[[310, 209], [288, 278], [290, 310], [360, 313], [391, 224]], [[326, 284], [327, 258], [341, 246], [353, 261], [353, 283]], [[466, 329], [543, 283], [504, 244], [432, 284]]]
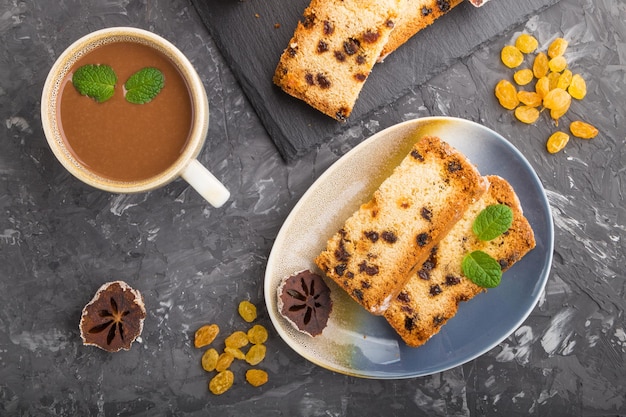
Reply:
[[80, 94], [98, 103], [113, 97], [117, 75], [108, 65], [88, 64], [74, 71], [72, 84]]

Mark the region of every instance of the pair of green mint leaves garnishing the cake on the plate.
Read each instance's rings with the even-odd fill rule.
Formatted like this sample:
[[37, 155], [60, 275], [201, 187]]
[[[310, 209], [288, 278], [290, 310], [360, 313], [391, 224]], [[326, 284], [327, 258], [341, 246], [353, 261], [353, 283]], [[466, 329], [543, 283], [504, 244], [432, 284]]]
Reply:
[[[486, 207], [474, 220], [472, 231], [479, 240], [489, 241], [505, 233], [513, 223], [513, 210], [505, 204]], [[475, 250], [463, 257], [463, 275], [474, 284], [494, 288], [502, 279], [502, 267], [491, 255]]]

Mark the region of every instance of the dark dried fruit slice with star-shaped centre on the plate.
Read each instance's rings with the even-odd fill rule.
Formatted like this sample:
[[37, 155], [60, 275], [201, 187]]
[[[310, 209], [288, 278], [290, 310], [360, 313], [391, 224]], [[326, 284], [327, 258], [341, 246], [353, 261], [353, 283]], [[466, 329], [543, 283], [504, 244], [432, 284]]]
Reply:
[[278, 309], [295, 328], [317, 336], [326, 328], [332, 311], [330, 288], [319, 275], [300, 271], [278, 287]]

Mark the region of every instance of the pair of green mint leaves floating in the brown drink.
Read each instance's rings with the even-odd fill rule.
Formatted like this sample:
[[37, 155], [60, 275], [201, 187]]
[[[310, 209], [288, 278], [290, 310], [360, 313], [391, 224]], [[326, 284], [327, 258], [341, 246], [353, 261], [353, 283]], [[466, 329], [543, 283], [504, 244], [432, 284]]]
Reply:
[[[81, 95], [103, 103], [113, 97], [117, 75], [109, 65], [87, 64], [74, 72], [72, 84]], [[124, 97], [133, 104], [149, 103], [164, 86], [165, 77], [159, 69], [143, 68], [124, 83]]]

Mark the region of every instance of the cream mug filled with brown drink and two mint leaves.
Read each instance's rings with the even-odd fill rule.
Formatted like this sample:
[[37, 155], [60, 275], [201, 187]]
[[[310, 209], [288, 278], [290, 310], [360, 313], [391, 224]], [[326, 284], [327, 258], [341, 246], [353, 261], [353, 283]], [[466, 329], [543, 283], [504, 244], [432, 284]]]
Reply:
[[182, 177], [215, 207], [230, 196], [197, 160], [209, 120], [200, 77], [152, 32], [109, 28], [74, 42], [48, 74], [41, 117], [54, 155], [93, 187], [137, 193]]

